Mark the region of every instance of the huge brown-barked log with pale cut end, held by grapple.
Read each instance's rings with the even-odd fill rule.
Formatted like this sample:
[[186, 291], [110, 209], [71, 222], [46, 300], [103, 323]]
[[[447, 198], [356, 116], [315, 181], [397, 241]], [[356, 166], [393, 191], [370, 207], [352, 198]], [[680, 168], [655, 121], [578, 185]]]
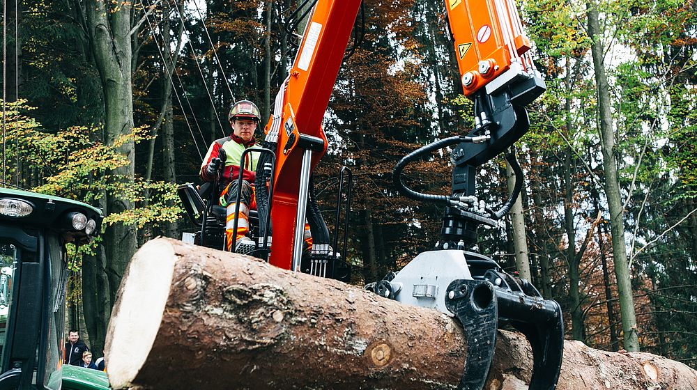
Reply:
[[[114, 389], [456, 389], [467, 341], [438, 311], [157, 239], [123, 276], [105, 352]], [[500, 331], [485, 389], [527, 389], [532, 361]], [[697, 390], [697, 371], [567, 341], [557, 388]]]

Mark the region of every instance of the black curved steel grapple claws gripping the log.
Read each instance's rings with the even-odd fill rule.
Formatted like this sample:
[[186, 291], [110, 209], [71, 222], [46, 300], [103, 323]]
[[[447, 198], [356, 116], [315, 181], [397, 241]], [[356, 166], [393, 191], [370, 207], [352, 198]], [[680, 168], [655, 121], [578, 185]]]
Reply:
[[[521, 331], [533, 349], [530, 390], [553, 390], [564, 351], [564, 328], [559, 304], [544, 299], [532, 286], [494, 270], [484, 279], [452, 281], [445, 306], [461, 322], [467, 337], [465, 372], [458, 389], [480, 390], [487, 380], [499, 322]], [[534, 295], [528, 295], [532, 292]]]

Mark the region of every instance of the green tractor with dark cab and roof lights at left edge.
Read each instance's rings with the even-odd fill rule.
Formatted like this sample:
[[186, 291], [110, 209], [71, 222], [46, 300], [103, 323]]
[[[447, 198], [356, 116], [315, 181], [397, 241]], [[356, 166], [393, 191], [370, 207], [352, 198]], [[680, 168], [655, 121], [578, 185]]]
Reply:
[[66, 244], [100, 231], [85, 203], [0, 189], [0, 390], [108, 389], [106, 374], [63, 369]]

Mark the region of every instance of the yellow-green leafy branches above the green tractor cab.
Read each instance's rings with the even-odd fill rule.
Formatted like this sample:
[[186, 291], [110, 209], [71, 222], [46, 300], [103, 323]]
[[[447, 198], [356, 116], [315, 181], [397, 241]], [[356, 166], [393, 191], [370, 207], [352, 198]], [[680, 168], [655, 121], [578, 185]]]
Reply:
[[[122, 194], [123, 198], [135, 203], [143, 203], [143, 195], [149, 194], [146, 207], [109, 214], [103, 227], [116, 222], [139, 228], [146, 224], [159, 226], [181, 216], [183, 210], [178, 205], [169, 205], [176, 198], [176, 183], [128, 182], [112, 173], [114, 169], [129, 164], [128, 157], [116, 152], [116, 148], [124, 142], [148, 140], [144, 127], [134, 128], [114, 140], [112, 146], [107, 146], [98, 141], [100, 128], [76, 126], [55, 133], [46, 132], [28, 116], [33, 109], [24, 105], [24, 101], [10, 105], [10, 109], [6, 141], [16, 144], [17, 148], [8, 150], [7, 160], [14, 161], [19, 153], [24, 169], [39, 173], [42, 183], [33, 187], [33, 191], [93, 205], [100, 205], [106, 192]], [[10, 175], [14, 175], [16, 169], [10, 165]], [[80, 251], [89, 253], [89, 248]]]

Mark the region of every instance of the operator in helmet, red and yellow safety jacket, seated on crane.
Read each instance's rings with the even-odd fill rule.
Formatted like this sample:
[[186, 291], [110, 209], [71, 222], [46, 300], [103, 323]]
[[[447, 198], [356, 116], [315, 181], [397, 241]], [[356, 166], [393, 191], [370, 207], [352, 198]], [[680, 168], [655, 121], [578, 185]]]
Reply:
[[[233, 104], [228, 115], [232, 127], [229, 137], [216, 139], [210, 144], [208, 153], [204, 157], [199, 172], [201, 180], [213, 182], [217, 175], [216, 167], [220, 164], [220, 150], [225, 151], [226, 159], [220, 187], [224, 190], [220, 194], [220, 205], [227, 210], [227, 223], [225, 233], [227, 236], [227, 250], [231, 250], [233, 237], [236, 235], [235, 251], [237, 253], [250, 254], [255, 249], [254, 241], [247, 234], [250, 231], [249, 211], [256, 210], [256, 196], [254, 194], [254, 178], [256, 177], [256, 164], [259, 162], [259, 153], [247, 153], [243, 166], [240, 167], [242, 153], [247, 148], [259, 147], [254, 139], [254, 132], [259, 126], [259, 108], [249, 100], [240, 100]], [[233, 232], [235, 221], [235, 209], [237, 198], [237, 178], [242, 169], [242, 194], [240, 196], [240, 214], [238, 217], [237, 231]], [[312, 247], [312, 237], [309, 236], [309, 226], [305, 226], [305, 242]]]

